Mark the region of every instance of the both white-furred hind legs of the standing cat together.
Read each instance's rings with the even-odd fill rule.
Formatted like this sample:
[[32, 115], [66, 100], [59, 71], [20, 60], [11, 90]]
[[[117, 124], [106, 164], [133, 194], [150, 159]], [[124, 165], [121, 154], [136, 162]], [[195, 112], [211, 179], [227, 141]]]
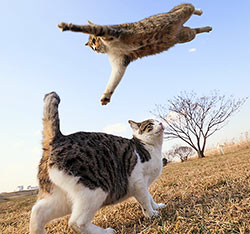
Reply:
[[[103, 229], [93, 225], [91, 220], [107, 198], [107, 193], [98, 188], [89, 188], [77, 183], [79, 178], [65, 174], [56, 168], [49, 170], [49, 177], [55, 184], [53, 192], [39, 200], [32, 208], [30, 233], [44, 234], [46, 223], [57, 217], [71, 214], [69, 226], [84, 234], [113, 234], [111, 228]], [[59, 189], [60, 188], [60, 189]]]

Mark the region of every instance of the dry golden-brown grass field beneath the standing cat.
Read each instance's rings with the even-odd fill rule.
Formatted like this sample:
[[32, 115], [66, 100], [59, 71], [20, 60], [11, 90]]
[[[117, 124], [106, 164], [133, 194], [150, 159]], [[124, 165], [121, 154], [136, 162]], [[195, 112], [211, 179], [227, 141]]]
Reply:
[[[119, 234], [250, 233], [250, 149], [168, 164], [150, 192], [166, 208], [151, 220], [130, 199], [100, 210], [94, 223]], [[28, 233], [36, 195], [0, 202], [0, 233]], [[68, 217], [46, 226], [48, 233], [73, 233]]]

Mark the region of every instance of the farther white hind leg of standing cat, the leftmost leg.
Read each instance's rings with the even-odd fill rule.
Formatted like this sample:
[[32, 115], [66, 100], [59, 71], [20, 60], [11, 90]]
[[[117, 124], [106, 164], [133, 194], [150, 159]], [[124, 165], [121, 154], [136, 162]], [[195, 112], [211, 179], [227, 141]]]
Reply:
[[45, 234], [44, 226], [49, 221], [70, 214], [71, 208], [66, 194], [54, 187], [33, 206], [30, 217], [30, 234]]

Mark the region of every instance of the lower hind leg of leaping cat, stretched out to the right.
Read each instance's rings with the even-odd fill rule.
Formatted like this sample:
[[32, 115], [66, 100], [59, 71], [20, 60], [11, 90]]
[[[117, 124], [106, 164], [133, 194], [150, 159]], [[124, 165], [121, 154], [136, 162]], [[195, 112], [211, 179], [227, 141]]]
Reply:
[[182, 27], [181, 31], [178, 33], [178, 43], [185, 43], [192, 41], [196, 34], [203, 33], [203, 32], [210, 32], [212, 30], [211, 27], [203, 27], [203, 28], [189, 28], [189, 27]]

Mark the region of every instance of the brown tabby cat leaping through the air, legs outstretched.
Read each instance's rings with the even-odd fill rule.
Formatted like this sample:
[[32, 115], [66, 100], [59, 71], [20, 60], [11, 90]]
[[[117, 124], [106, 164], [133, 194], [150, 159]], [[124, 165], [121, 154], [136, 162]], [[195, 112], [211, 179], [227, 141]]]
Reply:
[[86, 46], [97, 53], [107, 53], [112, 72], [101, 104], [110, 102], [128, 64], [137, 58], [161, 53], [177, 43], [193, 40], [198, 33], [210, 32], [211, 27], [189, 28], [183, 24], [192, 14], [201, 15], [192, 4], [181, 4], [168, 13], [153, 15], [136, 23], [119, 25], [88, 25], [60, 23], [62, 31], [89, 34]]

